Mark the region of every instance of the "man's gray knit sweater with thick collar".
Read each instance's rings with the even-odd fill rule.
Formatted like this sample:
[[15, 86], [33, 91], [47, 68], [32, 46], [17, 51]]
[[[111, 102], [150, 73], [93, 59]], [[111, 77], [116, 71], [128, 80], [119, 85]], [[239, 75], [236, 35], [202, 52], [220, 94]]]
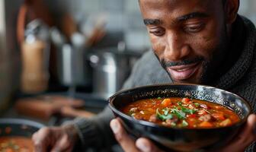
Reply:
[[[210, 84], [214, 87], [219, 87], [224, 90], [232, 91], [244, 97], [249, 101], [253, 112], [256, 112], [256, 30], [251, 21], [242, 17], [238, 17], [238, 27], [232, 32], [233, 37], [240, 36], [243, 33], [244, 40], [232, 42], [230, 49], [236, 47], [237, 43], [241, 43], [238, 59], [234, 62], [231, 68], [222, 74], [220, 78], [213, 80]], [[240, 23], [239, 23], [240, 20]], [[242, 30], [243, 29], [243, 30]], [[232, 51], [229, 51], [232, 53]], [[216, 69], [216, 71], [218, 71]], [[146, 52], [133, 68], [130, 78], [126, 81], [123, 89], [149, 85], [149, 84], [165, 84], [172, 83], [167, 72], [159, 64], [155, 55]], [[83, 147], [96, 147], [98, 149], [108, 149], [116, 141], [110, 130], [110, 120], [114, 118], [113, 113], [109, 108], [105, 108], [103, 112], [92, 119], [75, 119], [75, 127], [78, 129], [79, 137]], [[255, 151], [255, 143], [248, 147], [247, 151]]]

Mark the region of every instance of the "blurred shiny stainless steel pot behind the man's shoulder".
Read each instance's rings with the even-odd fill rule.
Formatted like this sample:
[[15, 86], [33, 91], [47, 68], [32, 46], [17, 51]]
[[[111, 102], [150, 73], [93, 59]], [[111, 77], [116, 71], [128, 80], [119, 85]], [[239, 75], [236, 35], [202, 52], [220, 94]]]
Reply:
[[93, 92], [107, 99], [123, 85], [133, 66], [133, 59], [139, 58], [139, 53], [120, 51], [117, 48], [102, 49], [93, 52], [89, 59], [92, 71]]

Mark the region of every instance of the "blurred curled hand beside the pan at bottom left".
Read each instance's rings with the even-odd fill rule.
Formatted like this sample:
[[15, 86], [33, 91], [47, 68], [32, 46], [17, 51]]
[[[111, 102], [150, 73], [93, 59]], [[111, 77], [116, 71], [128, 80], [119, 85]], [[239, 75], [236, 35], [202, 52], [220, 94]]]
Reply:
[[78, 134], [73, 125], [41, 128], [32, 136], [36, 152], [72, 151]]

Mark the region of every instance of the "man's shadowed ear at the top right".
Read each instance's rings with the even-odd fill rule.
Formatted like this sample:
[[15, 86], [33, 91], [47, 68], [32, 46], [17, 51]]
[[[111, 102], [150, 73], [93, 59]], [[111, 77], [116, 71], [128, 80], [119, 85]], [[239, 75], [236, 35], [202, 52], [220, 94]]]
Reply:
[[238, 14], [239, 0], [226, 0], [224, 4], [224, 11], [226, 12], [226, 23], [232, 24]]

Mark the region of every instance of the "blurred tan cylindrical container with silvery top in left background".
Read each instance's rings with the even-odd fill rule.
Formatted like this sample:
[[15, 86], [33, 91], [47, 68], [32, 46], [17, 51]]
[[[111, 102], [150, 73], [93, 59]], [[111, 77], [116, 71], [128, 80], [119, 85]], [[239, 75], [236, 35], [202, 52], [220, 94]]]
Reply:
[[40, 20], [31, 21], [21, 45], [21, 92], [41, 93], [49, 81], [49, 28]]

